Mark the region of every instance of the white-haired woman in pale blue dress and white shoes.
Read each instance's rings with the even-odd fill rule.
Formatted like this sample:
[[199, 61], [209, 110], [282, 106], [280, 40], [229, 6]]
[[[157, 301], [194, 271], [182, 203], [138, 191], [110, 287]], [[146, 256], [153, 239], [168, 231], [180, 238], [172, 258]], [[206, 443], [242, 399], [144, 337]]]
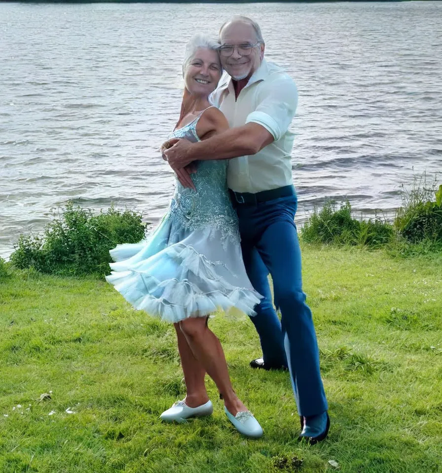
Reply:
[[[218, 46], [203, 34], [187, 44], [181, 114], [171, 137], [195, 142], [228, 128], [224, 115], [208, 99], [221, 78]], [[232, 424], [246, 436], [260, 437], [261, 426], [235, 394], [221, 343], [208, 327], [210, 313], [222, 309], [254, 315], [261, 299], [243, 265], [226, 167], [226, 161], [200, 162], [192, 177], [194, 190], [177, 179], [169, 210], [153, 235], [111, 250], [116, 263], [107, 280], [136, 308], [174, 323], [186, 397], [161, 419], [184, 422], [212, 414], [204, 382], [207, 372]]]

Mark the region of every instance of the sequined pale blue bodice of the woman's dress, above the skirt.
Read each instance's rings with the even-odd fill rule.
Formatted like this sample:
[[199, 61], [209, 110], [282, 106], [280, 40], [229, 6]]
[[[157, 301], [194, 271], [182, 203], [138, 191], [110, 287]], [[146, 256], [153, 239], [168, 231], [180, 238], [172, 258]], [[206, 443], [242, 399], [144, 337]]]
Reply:
[[[171, 137], [185, 138], [193, 143], [199, 141], [196, 134], [198, 119], [199, 116], [175, 130]], [[185, 229], [215, 227], [221, 230], [223, 236], [239, 238], [237, 216], [227, 189], [227, 161], [198, 161], [192, 180], [196, 191], [183, 187], [176, 179], [169, 212]]]

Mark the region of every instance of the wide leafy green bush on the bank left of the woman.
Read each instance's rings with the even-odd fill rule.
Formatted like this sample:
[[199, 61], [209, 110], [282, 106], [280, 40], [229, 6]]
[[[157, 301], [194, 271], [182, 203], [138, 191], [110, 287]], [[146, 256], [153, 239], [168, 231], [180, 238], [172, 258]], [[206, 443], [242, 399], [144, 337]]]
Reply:
[[46, 225], [43, 235], [20, 235], [11, 263], [19, 269], [62, 275], [109, 273], [109, 250], [120, 243], [143, 239], [142, 215], [119, 211], [94, 214], [68, 203], [59, 218]]

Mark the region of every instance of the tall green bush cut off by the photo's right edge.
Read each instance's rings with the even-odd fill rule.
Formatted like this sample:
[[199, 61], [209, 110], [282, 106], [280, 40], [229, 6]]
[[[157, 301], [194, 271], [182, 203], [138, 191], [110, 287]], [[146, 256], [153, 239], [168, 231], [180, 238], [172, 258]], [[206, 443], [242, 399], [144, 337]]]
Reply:
[[395, 220], [400, 235], [410, 243], [442, 243], [442, 185], [436, 193], [414, 188], [404, 200]]

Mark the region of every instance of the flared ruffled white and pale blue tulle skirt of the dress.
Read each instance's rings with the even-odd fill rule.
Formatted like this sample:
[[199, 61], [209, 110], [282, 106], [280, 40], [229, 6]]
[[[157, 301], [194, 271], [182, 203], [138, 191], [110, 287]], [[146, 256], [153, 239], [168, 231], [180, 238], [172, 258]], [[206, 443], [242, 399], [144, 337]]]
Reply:
[[[221, 244], [225, 236], [214, 228], [185, 236], [171, 235], [170, 227], [166, 219], [148, 240], [111, 250], [107, 281], [135, 308], [168, 322], [220, 309], [255, 315], [261, 296], [247, 277], [239, 242]], [[171, 238], [178, 241], [170, 244]]]

